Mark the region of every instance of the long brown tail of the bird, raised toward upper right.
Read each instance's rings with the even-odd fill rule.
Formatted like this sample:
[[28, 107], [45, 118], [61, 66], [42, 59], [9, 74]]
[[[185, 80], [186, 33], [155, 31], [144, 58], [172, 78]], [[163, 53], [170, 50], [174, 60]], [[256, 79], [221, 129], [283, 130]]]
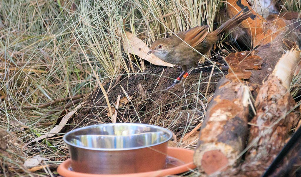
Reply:
[[238, 16], [244, 10], [245, 9], [238, 12], [238, 14], [236, 14], [230, 20], [228, 20], [224, 24], [222, 24], [218, 29], [213, 31], [213, 33], [216, 34], [216, 36], [218, 36], [220, 33], [226, 32], [226, 31], [230, 30], [231, 28], [238, 26], [242, 21], [246, 20], [253, 14], [252, 13], [253, 10], [249, 10], [246, 13]]

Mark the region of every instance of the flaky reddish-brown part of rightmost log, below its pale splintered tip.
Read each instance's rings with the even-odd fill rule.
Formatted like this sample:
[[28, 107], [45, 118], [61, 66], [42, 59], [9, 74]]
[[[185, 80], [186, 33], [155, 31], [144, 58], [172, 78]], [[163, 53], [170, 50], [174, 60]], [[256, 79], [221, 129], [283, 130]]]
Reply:
[[263, 84], [255, 104], [257, 115], [251, 121], [251, 148], [241, 166], [247, 176], [260, 176], [265, 172], [298, 120], [296, 114], [290, 112], [296, 103], [277, 76], [270, 76]]

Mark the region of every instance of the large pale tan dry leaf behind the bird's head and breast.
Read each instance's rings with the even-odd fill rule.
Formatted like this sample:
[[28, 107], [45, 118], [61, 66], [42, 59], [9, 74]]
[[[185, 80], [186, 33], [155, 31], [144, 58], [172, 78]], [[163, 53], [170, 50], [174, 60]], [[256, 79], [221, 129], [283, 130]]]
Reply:
[[126, 32], [123, 36], [123, 47], [125, 51], [128, 51], [131, 54], [138, 55], [140, 58], [145, 59], [151, 64], [158, 66], [175, 66], [173, 64], [164, 62], [160, 58], [156, 57], [154, 54], [147, 55], [147, 52], [150, 50], [147, 45], [138, 37], [132, 33]]

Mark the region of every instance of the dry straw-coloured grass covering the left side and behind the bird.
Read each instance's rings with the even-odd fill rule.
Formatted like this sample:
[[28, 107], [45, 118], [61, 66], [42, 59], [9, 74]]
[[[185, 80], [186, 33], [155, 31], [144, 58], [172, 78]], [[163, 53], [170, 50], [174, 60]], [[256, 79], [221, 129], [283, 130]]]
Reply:
[[[287, 9], [296, 7], [299, 10], [299, 2], [295, 6], [287, 2], [284, 4]], [[71, 103], [68, 110], [73, 110], [78, 104], [61, 101], [43, 108], [38, 108], [39, 105], [74, 95], [88, 95], [97, 90], [100, 83], [112, 85], [123, 72], [144, 71], [143, 59], [128, 55], [123, 50], [125, 31], [139, 36], [148, 45], [158, 38], [197, 25], [209, 24], [212, 31], [216, 14], [222, 6], [218, 0], [1, 0], [0, 127], [9, 134], [8, 149], [1, 153], [0, 158], [4, 176], [55, 176], [56, 171], [50, 167], [30, 172], [23, 163], [36, 155], [48, 159], [40, 165], [60, 164], [68, 158], [67, 146], [62, 141], [63, 133], [28, 144], [23, 149], [34, 138], [48, 134], [67, 103]], [[299, 81], [298, 78], [295, 80]], [[199, 89], [200, 83], [204, 82], [200, 77], [196, 88]], [[210, 83], [206, 81], [205, 84]], [[197, 96], [193, 97], [195, 94]], [[183, 93], [179, 105], [185, 107], [189, 103], [195, 105], [195, 110], [203, 109], [199, 101], [206, 105], [210, 94], [205, 97], [205, 94], [194, 92], [187, 97]], [[115, 100], [107, 99], [106, 103], [111, 102]], [[24, 106], [35, 109], [21, 109]], [[12, 111], [12, 108], [17, 110]], [[178, 109], [175, 107], [170, 114], [177, 115]], [[163, 125], [164, 122], [155, 117], [161, 109], [152, 113], [152, 123], [176, 128], [177, 118]], [[194, 114], [187, 114], [178, 146], [195, 147], [196, 142], [182, 143], [185, 133], [203, 118], [203, 115]], [[88, 122], [95, 124], [107, 120], [105, 117]], [[194, 176], [195, 173], [183, 175]]]

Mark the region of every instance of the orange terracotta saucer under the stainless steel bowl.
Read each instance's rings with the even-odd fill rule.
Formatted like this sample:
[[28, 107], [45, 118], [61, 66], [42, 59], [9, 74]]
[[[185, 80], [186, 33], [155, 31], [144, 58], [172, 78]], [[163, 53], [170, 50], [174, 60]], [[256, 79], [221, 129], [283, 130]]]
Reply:
[[[151, 171], [151, 172], [143, 172], [143, 173], [128, 173], [128, 174], [90, 174], [90, 173], [80, 173], [74, 172], [69, 169], [71, 160], [68, 159], [61, 163], [57, 168], [58, 174], [63, 177], [160, 177], [165, 175], [175, 175], [182, 172], [189, 171], [191, 169], [196, 168], [193, 164], [193, 150], [168, 147], [167, 155], [172, 157], [171, 159], [177, 159], [175, 163], [169, 162], [170, 164], [166, 169]], [[184, 163], [184, 164], [183, 164]]]

